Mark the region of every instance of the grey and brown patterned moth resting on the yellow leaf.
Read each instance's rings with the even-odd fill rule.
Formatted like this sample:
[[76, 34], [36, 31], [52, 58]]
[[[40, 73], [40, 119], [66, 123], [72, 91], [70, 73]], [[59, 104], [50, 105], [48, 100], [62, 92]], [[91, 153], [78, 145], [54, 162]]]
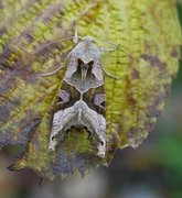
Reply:
[[[67, 40], [71, 37], [67, 37]], [[78, 42], [78, 38], [82, 41]], [[66, 40], [66, 38], [65, 38]], [[49, 142], [49, 151], [55, 151], [64, 141], [71, 128], [84, 128], [97, 146], [97, 156], [106, 154], [106, 96], [101, 53], [90, 36], [77, 36], [75, 28], [75, 47], [66, 57], [66, 72], [57, 94]], [[56, 70], [42, 76], [51, 76]], [[111, 76], [111, 75], [109, 75]]]

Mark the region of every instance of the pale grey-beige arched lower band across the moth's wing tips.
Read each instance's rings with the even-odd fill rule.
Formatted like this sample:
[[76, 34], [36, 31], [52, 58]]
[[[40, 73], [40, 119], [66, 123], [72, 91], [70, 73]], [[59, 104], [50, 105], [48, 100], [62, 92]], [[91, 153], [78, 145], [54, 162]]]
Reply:
[[[106, 150], [106, 119], [92, 110], [86, 102], [77, 101], [73, 107], [61, 110], [54, 114], [49, 150], [54, 151], [58, 142], [64, 141], [64, 135], [72, 127], [86, 128], [98, 144], [98, 156], [105, 156]], [[58, 140], [58, 142], [56, 141]]]

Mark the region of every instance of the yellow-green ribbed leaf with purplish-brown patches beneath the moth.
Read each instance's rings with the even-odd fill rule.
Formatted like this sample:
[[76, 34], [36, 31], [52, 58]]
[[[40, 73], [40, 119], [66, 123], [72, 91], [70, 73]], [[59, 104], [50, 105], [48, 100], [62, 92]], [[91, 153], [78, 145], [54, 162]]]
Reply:
[[[14, 9], [15, 8], [15, 9]], [[178, 70], [181, 32], [173, 0], [2, 1], [0, 21], [0, 145], [23, 144], [10, 167], [32, 168], [54, 178], [88, 172], [109, 162], [117, 147], [137, 147], [153, 129]], [[14, 9], [14, 11], [13, 11]], [[106, 160], [96, 157], [85, 131], [73, 131], [58, 151], [49, 153], [51, 120], [72, 41], [36, 51], [58, 37], [90, 35], [119, 45], [103, 56], [107, 106]], [[32, 55], [30, 52], [34, 52]]]

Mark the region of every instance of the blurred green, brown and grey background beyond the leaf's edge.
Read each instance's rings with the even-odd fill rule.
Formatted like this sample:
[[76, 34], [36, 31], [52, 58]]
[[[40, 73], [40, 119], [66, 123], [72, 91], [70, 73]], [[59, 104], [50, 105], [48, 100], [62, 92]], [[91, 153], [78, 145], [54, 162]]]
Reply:
[[[182, 25], [181, 1], [178, 10]], [[117, 151], [108, 168], [39, 186], [34, 173], [6, 169], [9, 150], [0, 155], [0, 198], [182, 198], [182, 61], [153, 132], [138, 150]]]

